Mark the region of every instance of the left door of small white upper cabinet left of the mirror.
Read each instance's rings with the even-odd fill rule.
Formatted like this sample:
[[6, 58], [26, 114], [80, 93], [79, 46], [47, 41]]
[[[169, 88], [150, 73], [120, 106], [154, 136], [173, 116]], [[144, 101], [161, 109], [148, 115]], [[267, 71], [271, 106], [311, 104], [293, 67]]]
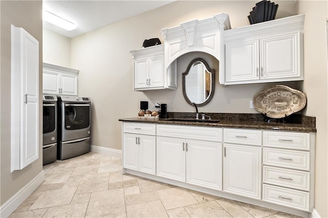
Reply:
[[148, 88], [149, 59], [134, 60], [134, 88]]

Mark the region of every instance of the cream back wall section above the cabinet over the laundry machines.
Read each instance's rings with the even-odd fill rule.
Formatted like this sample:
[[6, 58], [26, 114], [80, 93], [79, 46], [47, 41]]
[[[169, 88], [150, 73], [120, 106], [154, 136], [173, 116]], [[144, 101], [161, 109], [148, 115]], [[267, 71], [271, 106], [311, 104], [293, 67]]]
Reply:
[[71, 39], [43, 29], [43, 62], [71, 67]]

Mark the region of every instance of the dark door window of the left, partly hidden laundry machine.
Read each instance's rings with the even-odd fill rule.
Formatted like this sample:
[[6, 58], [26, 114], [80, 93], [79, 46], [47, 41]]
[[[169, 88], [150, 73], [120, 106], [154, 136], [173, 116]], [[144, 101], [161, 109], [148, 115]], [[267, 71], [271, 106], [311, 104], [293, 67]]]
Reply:
[[56, 107], [55, 104], [43, 104], [43, 134], [54, 132], [56, 128]]

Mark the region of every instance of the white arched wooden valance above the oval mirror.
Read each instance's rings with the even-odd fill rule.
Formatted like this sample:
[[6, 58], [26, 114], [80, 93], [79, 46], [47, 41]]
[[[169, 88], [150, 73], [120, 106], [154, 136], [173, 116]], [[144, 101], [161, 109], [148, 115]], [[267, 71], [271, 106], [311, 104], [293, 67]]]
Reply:
[[220, 13], [207, 19], [195, 19], [177, 27], [162, 29], [160, 33], [164, 37], [165, 69], [179, 56], [196, 51], [211, 54], [223, 61], [224, 30], [230, 28], [229, 15]]

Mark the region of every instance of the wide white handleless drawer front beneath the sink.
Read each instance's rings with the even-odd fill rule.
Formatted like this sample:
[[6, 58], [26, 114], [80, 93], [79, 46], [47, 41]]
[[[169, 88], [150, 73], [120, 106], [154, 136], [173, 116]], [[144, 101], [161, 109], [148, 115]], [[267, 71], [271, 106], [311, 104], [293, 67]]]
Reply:
[[157, 136], [221, 142], [222, 128], [179, 126], [179, 125], [157, 125]]

